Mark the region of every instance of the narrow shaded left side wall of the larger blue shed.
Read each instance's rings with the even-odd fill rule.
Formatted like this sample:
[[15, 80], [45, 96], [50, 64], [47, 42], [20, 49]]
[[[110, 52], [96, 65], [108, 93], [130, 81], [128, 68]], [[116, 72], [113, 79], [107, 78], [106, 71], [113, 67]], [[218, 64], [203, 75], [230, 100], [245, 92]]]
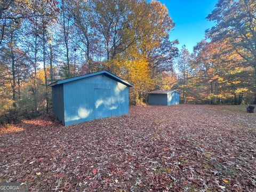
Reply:
[[52, 87], [52, 108], [59, 121], [64, 123], [63, 84]]

